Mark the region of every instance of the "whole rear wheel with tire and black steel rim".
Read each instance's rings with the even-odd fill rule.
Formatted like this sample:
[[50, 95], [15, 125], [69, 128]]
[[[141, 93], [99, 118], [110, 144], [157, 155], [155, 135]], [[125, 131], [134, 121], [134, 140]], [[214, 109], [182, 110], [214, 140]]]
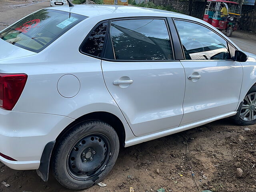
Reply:
[[72, 190], [91, 187], [112, 170], [118, 152], [119, 139], [112, 126], [98, 120], [82, 122], [56, 144], [51, 162], [54, 177]]

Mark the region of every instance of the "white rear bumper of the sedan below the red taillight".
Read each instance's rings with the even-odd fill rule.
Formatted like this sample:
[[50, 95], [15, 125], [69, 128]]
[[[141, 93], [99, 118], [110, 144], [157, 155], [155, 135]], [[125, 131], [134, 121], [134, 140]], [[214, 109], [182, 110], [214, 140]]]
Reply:
[[52, 114], [14, 112], [0, 109], [0, 161], [16, 170], [38, 169], [46, 144], [74, 119]]

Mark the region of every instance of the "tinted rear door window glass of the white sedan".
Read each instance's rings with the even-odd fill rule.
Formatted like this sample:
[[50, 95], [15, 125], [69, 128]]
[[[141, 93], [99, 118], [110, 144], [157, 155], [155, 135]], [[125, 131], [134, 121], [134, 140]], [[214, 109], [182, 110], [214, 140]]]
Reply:
[[114, 21], [110, 35], [116, 60], [172, 60], [165, 20]]

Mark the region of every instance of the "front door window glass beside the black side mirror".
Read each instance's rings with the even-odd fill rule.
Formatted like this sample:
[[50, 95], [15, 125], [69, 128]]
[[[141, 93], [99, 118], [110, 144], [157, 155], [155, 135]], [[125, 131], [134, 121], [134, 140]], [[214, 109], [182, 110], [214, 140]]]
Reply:
[[227, 60], [230, 59], [228, 44], [212, 30], [186, 21], [175, 21], [186, 59]]

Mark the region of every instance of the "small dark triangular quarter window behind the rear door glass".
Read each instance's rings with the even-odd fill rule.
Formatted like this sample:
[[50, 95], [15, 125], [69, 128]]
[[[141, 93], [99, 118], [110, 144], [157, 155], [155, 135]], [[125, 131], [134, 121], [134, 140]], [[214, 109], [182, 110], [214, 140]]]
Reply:
[[106, 36], [108, 22], [100, 24], [82, 45], [81, 51], [93, 56], [100, 57]]

